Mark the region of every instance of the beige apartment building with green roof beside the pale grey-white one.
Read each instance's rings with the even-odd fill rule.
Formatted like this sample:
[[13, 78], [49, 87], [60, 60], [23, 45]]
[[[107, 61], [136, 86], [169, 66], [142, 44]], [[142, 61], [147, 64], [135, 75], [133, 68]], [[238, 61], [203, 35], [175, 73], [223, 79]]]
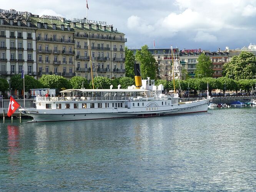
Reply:
[[32, 15], [37, 27], [37, 76], [56, 74], [75, 76], [75, 31], [61, 17]]

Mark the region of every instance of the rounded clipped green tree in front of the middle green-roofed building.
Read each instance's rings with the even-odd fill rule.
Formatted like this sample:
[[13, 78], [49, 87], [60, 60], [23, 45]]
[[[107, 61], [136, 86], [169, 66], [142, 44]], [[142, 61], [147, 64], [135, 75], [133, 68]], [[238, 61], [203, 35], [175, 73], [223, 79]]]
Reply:
[[39, 79], [39, 82], [42, 83], [43, 88], [50, 88], [50, 89], [70, 89], [71, 84], [68, 79], [64, 78], [63, 76], [55, 75], [55, 74], [43, 74], [42, 77]]

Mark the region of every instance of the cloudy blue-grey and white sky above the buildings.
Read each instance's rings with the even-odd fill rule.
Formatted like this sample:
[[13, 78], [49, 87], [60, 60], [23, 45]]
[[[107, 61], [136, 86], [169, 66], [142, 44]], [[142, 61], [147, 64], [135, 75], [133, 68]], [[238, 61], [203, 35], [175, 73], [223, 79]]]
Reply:
[[[256, 43], [256, 0], [88, 0], [88, 19], [113, 24], [126, 46], [216, 51]], [[37, 15], [86, 17], [86, 0], [1, 0]]]

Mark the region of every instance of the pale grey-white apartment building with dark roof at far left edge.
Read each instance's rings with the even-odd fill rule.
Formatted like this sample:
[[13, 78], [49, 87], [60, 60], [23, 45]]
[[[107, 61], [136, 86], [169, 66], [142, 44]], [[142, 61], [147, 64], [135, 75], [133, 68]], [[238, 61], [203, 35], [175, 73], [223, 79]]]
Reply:
[[0, 11], [0, 74], [10, 79], [22, 73], [36, 76], [36, 26], [28, 12]]

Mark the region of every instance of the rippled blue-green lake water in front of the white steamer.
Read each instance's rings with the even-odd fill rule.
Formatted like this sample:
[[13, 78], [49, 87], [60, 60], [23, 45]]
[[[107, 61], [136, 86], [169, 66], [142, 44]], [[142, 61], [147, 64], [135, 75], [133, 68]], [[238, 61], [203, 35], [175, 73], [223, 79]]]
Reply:
[[0, 191], [256, 190], [256, 107], [0, 121]]

